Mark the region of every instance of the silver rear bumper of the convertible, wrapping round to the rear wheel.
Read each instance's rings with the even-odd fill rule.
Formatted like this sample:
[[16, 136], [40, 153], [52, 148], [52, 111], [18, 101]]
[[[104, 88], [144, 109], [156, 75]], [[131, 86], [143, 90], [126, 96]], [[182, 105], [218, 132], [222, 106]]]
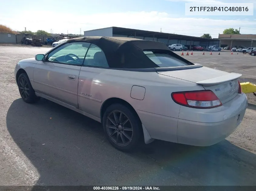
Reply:
[[[148, 132], [148, 140], [153, 138], [186, 145], [209, 146], [234, 132], [244, 118], [247, 104], [247, 97], [243, 93], [217, 108], [194, 109], [181, 106], [179, 119], [140, 110], [138, 115]], [[145, 142], [148, 140], [145, 139]]]

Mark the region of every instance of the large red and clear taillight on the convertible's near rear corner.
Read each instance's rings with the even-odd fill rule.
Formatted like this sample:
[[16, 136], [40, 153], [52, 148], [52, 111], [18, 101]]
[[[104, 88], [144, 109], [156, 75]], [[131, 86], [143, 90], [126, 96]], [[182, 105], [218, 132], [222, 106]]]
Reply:
[[172, 99], [183, 106], [209, 109], [222, 106], [219, 98], [210, 90], [173, 92]]

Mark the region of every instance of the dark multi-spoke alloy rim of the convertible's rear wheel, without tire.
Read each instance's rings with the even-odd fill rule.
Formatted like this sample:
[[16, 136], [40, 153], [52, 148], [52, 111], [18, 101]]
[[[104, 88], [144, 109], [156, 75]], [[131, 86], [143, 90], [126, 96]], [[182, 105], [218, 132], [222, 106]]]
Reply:
[[114, 110], [106, 118], [106, 130], [111, 140], [118, 146], [124, 147], [131, 143], [133, 127], [125, 113]]

